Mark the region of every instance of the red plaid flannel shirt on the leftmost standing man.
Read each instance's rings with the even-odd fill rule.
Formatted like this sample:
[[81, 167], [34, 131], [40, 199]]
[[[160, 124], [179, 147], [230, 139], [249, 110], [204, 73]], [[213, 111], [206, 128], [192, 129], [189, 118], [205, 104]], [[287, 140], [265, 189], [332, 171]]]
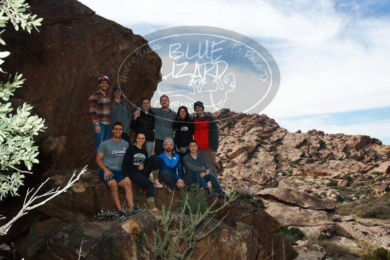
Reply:
[[89, 108], [93, 125], [110, 125], [110, 98], [96, 91], [90, 95]]

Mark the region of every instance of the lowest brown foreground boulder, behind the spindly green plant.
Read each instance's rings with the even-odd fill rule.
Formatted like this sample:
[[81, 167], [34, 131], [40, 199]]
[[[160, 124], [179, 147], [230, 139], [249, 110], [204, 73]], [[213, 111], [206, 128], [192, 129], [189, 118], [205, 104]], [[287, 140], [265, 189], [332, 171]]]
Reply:
[[[181, 217], [177, 213], [170, 214], [172, 222], [170, 229], [181, 227]], [[189, 216], [187, 216], [189, 220]], [[73, 222], [73, 223], [47, 223], [51, 232], [30, 233], [25, 241], [17, 246], [22, 257], [28, 259], [62, 260], [79, 259], [79, 254], [85, 259], [151, 259], [152, 248], [162, 241], [156, 241], [154, 232], [164, 230], [162, 212], [146, 212], [123, 223], [110, 222]], [[191, 220], [189, 220], [191, 221]], [[40, 224], [40, 229], [45, 229]], [[38, 228], [37, 228], [38, 229]], [[183, 231], [183, 230], [182, 230]], [[211, 232], [212, 231], [212, 232]], [[188, 255], [195, 259], [243, 259], [255, 260], [258, 254], [258, 234], [247, 224], [239, 223], [232, 228], [217, 220], [205, 219], [192, 231], [203, 239], [190, 248]], [[164, 232], [158, 236], [164, 237]], [[170, 240], [175, 240], [178, 233], [173, 234]], [[188, 235], [189, 236], [189, 235]], [[187, 237], [185, 237], [187, 238]], [[85, 241], [82, 243], [82, 241]], [[180, 240], [175, 253], [183, 254], [186, 250], [184, 239]], [[156, 243], [156, 244], [155, 244]], [[80, 252], [81, 246], [81, 252]], [[168, 244], [168, 250], [173, 247]]]

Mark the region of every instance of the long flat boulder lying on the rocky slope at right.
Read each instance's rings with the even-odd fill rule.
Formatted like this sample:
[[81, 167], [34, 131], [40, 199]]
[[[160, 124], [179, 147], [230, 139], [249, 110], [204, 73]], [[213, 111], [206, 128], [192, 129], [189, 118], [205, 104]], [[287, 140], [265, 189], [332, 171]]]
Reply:
[[333, 211], [335, 206], [326, 199], [319, 199], [304, 192], [290, 188], [268, 188], [261, 190], [258, 195], [271, 198], [282, 203], [297, 205], [301, 208]]

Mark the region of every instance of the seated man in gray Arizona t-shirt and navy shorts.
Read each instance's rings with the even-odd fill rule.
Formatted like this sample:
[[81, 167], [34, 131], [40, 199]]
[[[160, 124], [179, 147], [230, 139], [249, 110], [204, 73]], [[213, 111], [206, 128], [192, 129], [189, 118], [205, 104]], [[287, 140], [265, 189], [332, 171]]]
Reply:
[[[112, 126], [112, 138], [103, 141], [99, 149], [95, 162], [99, 169], [99, 178], [102, 182], [111, 189], [111, 199], [119, 211], [119, 221], [125, 221], [128, 216], [133, 216], [137, 213], [145, 212], [146, 209], [141, 209], [134, 206], [133, 193], [131, 190], [131, 181], [129, 177], [123, 177], [122, 163], [125, 157], [126, 150], [129, 148], [129, 143], [121, 139], [123, 126], [120, 122], [116, 122]], [[119, 200], [118, 186], [125, 189], [125, 198], [129, 209], [128, 216], [122, 211]]]

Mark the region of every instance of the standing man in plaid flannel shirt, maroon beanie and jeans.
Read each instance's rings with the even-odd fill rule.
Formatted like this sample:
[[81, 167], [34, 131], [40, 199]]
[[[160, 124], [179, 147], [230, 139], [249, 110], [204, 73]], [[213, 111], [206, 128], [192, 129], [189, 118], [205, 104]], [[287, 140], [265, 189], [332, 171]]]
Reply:
[[92, 120], [92, 130], [95, 138], [95, 156], [101, 142], [107, 140], [110, 134], [110, 98], [108, 76], [102, 75], [98, 79], [98, 91], [89, 97], [89, 112]]

